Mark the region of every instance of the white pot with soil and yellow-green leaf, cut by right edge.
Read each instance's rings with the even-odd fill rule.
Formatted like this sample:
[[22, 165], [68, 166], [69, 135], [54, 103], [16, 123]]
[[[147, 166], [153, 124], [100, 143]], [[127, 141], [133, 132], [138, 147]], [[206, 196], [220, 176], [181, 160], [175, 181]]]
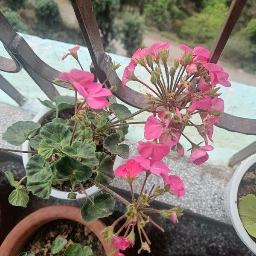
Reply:
[[236, 169], [225, 189], [224, 202], [239, 237], [256, 253], [256, 154]]

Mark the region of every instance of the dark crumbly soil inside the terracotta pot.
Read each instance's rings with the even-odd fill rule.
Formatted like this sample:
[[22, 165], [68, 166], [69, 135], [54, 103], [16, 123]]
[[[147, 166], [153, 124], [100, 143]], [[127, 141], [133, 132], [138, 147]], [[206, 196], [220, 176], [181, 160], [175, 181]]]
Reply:
[[[66, 247], [71, 243], [87, 245], [92, 248], [94, 255], [106, 256], [102, 243], [90, 229], [79, 222], [66, 219], [45, 224], [27, 241], [23, 251], [31, 250], [35, 256], [51, 255], [52, 242], [61, 237], [67, 239]], [[63, 256], [66, 247], [55, 256]]]

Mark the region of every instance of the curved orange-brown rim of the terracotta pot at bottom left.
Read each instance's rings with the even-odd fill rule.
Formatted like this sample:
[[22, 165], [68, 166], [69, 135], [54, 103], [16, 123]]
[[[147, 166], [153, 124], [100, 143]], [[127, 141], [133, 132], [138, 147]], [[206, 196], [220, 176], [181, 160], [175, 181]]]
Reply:
[[100, 220], [85, 222], [80, 214], [80, 209], [74, 206], [58, 205], [41, 208], [20, 221], [6, 236], [0, 247], [0, 256], [17, 256], [22, 252], [28, 239], [44, 224], [57, 219], [77, 221], [90, 228], [101, 241], [105, 253], [109, 255], [116, 250], [112, 244], [107, 244], [100, 232], [106, 227]]

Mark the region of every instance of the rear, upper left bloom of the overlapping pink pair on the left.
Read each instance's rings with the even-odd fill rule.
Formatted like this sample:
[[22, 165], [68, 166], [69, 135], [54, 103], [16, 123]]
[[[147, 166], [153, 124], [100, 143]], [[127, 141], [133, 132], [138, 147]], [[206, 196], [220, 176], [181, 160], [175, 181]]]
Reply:
[[93, 73], [90, 73], [87, 71], [73, 69], [70, 72], [60, 73], [59, 78], [62, 80], [66, 80], [66, 81], [70, 82], [71, 84], [73, 84], [73, 82], [82, 84], [86, 81], [93, 82], [94, 75], [93, 75]]

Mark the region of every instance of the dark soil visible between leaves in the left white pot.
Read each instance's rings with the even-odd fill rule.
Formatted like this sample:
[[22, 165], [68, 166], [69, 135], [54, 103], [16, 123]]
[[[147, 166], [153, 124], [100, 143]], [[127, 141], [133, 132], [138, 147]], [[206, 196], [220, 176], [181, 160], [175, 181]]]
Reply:
[[[60, 111], [58, 117], [66, 120], [66, 119], [71, 119], [71, 117], [74, 114], [75, 114], [74, 109], [69, 108], [69, 109], [64, 109], [64, 110]], [[44, 119], [41, 122], [41, 126], [43, 127], [47, 123], [51, 122], [52, 119], [54, 119], [55, 117], [56, 117], [56, 112], [51, 113], [49, 116], [44, 116]], [[113, 133], [113, 132], [114, 132], [114, 130], [111, 130], [110, 134]], [[35, 135], [38, 135], [38, 134], [39, 134], [39, 131]], [[111, 156], [112, 160], [115, 160], [115, 157], [116, 157], [115, 154], [111, 154], [110, 152], [104, 150], [103, 145], [102, 145], [102, 142], [103, 142], [104, 139], [105, 139], [105, 136], [102, 136], [102, 140], [100, 140], [99, 145], [96, 146], [96, 152], [103, 152], [104, 151], [106, 154]], [[96, 174], [93, 173], [92, 178], [95, 178], [95, 177], [96, 177]], [[89, 180], [86, 180], [83, 183], [83, 186], [84, 186], [85, 189], [88, 189], [93, 185], [94, 184], [91, 183]], [[61, 190], [61, 191], [70, 192], [71, 188], [72, 188], [72, 184], [70, 183], [70, 181], [64, 181], [62, 183], [52, 184], [52, 187], [54, 187], [55, 189]], [[82, 193], [79, 184], [76, 184], [76, 186], [74, 188], [74, 192], [81, 192]]]

